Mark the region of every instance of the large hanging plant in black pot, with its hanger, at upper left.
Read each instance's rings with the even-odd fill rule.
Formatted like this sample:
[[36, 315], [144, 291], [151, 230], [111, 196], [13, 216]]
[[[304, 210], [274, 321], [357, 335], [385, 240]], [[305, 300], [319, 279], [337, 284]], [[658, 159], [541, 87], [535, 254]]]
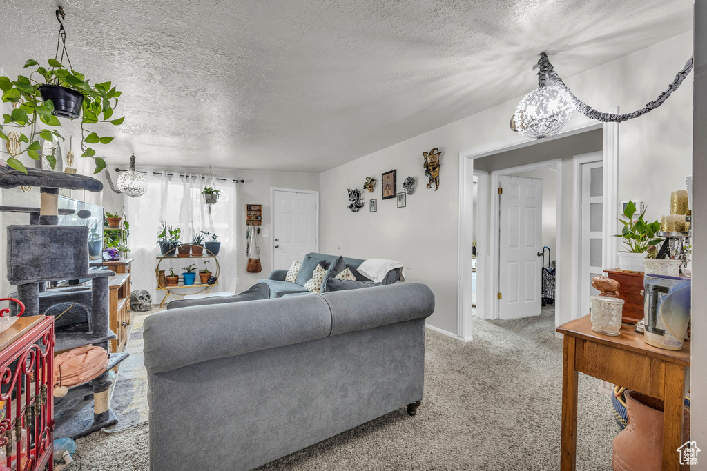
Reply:
[[[7, 165], [27, 173], [27, 169], [17, 158], [19, 155], [27, 153], [30, 158], [40, 160], [42, 157], [40, 139], [53, 141], [54, 136], [64, 139], [57, 129], [48, 129], [42, 124], [56, 128], [62, 126], [58, 117], [81, 119], [81, 150], [83, 151], [81, 157], [91, 157], [95, 160], [93, 173], [97, 174], [105, 168], [105, 160], [98, 157], [96, 150], [89, 145], [108, 144], [113, 138], [90, 132], [90, 126], [96, 123], [111, 123], [118, 126], [123, 123], [124, 117], [111, 119], [120, 92], [110, 81], [91, 85], [83, 73], [74, 70], [69, 60], [69, 53], [66, 52], [63, 18], [64, 11], [59, 7], [57, 9], [57, 20], [59, 20], [57, 56], [49, 59], [47, 66], [40, 66], [34, 59], [29, 59], [24, 66], [34, 68], [29, 76], [20, 75], [16, 80], [0, 76], [2, 101], [16, 104], [11, 114], [3, 115], [4, 124], [0, 125], [0, 138], [9, 141], [6, 128], [25, 130], [19, 132], [18, 138], [19, 142], [26, 144], [24, 149], [10, 154]], [[59, 56], [60, 45], [63, 45], [61, 56]], [[64, 59], [68, 67], [64, 66]], [[56, 157], [53, 154], [44, 157], [54, 168]]]

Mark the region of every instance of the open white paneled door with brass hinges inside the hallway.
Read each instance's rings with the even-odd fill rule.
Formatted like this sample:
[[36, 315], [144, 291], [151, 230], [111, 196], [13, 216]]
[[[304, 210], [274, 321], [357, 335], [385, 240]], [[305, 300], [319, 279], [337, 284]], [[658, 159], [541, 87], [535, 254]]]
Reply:
[[542, 179], [501, 176], [499, 317], [538, 316], [542, 309]]

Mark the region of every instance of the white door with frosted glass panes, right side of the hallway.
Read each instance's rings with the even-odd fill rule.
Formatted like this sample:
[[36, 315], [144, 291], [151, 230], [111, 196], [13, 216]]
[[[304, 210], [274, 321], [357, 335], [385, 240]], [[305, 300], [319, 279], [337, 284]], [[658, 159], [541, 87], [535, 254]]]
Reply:
[[602, 232], [604, 229], [604, 164], [583, 163], [581, 167], [580, 256], [581, 283], [580, 316], [589, 314], [590, 296], [599, 294], [592, 287], [592, 278], [602, 275]]

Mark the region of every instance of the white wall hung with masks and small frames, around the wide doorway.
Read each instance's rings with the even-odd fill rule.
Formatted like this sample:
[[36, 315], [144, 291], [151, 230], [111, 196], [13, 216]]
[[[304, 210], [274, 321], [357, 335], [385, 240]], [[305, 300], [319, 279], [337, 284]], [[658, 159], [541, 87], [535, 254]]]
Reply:
[[[655, 100], [691, 55], [688, 32], [568, 77], [566, 83], [597, 109], [620, 106], [630, 112]], [[556, 62], [561, 73], [562, 64]], [[534, 74], [530, 69], [527, 73]], [[691, 173], [691, 98], [692, 83], [687, 80], [660, 109], [619, 126], [619, 201], [643, 199], [657, 215], [670, 210], [670, 192], [684, 188]], [[426, 283], [436, 294], [436, 312], [428, 323], [457, 333], [459, 154], [512, 137], [508, 121], [519, 100], [323, 172], [321, 250], [401, 261], [409, 280]], [[421, 155], [433, 147], [443, 150], [439, 191], [422, 184]], [[378, 213], [346, 209], [347, 188], [360, 188], [366, 176], [380, 179], [390, 169], [397, 169], [399, 182], [408, 174], [419, 179], [407, 208], [396, 208], [394, 200], [381, 201], [377, 186]]]

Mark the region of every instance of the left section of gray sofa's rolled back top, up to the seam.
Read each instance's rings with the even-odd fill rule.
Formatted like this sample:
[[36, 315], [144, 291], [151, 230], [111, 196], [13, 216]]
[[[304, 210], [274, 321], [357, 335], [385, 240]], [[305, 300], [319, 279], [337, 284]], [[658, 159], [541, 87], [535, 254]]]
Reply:
[[170, 309], [145, 319], [150, 374], [325, 338], [332, 314], [320, 296]]

